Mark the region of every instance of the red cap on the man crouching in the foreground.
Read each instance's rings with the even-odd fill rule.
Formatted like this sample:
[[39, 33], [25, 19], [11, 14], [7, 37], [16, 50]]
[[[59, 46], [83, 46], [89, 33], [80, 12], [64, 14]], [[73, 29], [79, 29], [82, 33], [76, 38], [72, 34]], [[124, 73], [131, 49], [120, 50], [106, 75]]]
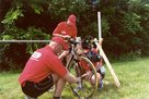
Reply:
[[65, 42], [65, 40], [62, 38], [60, 38], [60, 37], [53, 37], [51, 41], [55, 41], [55, 42], [61, 45], [65, 50], [68, 49], [67, 42]]

